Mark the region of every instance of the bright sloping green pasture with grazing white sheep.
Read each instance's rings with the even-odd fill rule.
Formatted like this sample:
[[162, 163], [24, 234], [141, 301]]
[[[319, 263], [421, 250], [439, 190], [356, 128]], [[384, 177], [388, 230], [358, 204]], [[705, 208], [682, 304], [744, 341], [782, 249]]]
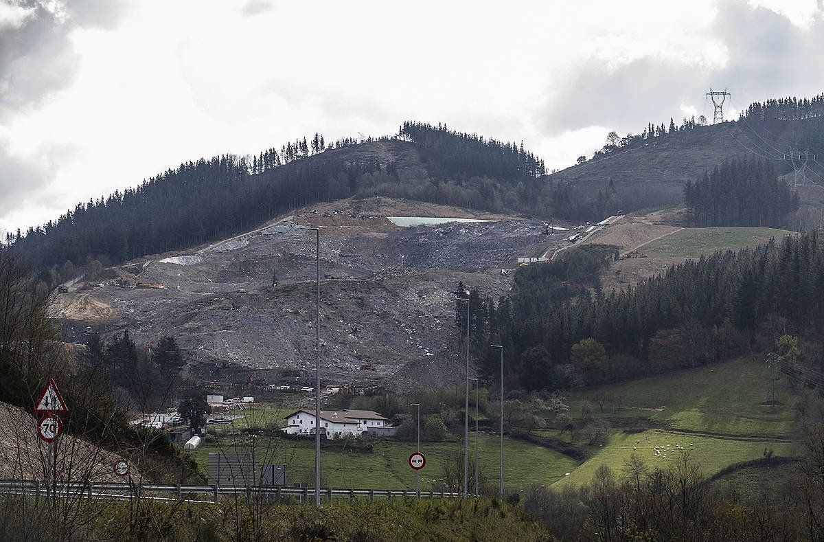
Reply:
[[[572, 416], [580, 417], [588, 402], [593, 414], [611, 421], [616, 430], [603, 446], [588, 446], [592, 458], [556, 485], [583, 484], [600, 465], [620, 471], [633, 454], [650, 466], [667, 465], [681, 453], [676, 444], [708, 475], [738, 461], [757, 459], [765, 449], [777, 456], [794, 455], [798, 450], [794, 441], [796, 398], [780, 379], [776, 386], [780, 404], [775, 408], [764, 404], [770, 398], [771, 375], [761, 360], [740, 358], [575, 391], [569, 395]], [[614, 410], [605, 404], [600, 410], [594, 400], [600, 392], [620, 396], [621, 408]], [[627, 426], [650, 429], [635, 434], [617, 429]], [[667, 458], [656, 456], [655, 446], [667, 446]]]

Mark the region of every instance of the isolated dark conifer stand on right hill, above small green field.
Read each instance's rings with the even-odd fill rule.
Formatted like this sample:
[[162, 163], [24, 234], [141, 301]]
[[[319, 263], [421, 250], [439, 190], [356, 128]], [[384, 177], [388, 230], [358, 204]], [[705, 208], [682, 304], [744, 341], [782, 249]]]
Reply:
[[687, 222], [696, 227], [785, 227], [798, 194], [760, 158], [733, 159], [684, 188]]

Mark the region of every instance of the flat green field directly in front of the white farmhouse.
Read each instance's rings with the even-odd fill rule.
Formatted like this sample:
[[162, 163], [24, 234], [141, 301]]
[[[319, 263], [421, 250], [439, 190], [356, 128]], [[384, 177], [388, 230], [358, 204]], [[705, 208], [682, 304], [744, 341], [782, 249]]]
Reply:
[[[285, 440], [273, 438], [256, 445], [260, 458], [266, 462], [282, 463], [287, 466], [287, 482], [310, 483], [314, 469], [315, 442], [311, 440]], [[475, 443], [470, 439], [470, 454], [474, 456]], [[407, 464], [409, 455], [415, 450], [414, 442], [395, 439], [380, 439], [373, 442], [370, 452], [326, 448], [321, 450], [321, 472], [325, 477], [324, 486], [333, 488], [414, 488], [414, 471]], [[269, 449], [269, 451], [265, 451]], [[199, 447], [192, 456], [204, 466], [208, 452], [219, 451], [220, 446], [207, 443]], [[234, 448], [227, 451], [235, 451]], [[237, 451], [242, 451], [239, 448]], [[442, 477], [443, 463], [447, 458], [463, 453], [462, 441], [450, 437], [445, 442], [422, 442], [421, 451], [426, 456], [426, 467], [421, 471], [421, 488], [429, 488], [433, 479]], [[504, 440], [504, 468], [507, 487], [522, 488], [530, 483], [552, 484], [563, 478], [564, 473], [573, 470], [578, 462], [556, 451], [535, 446], [514, 439]], [[489, 483], [497, 485], [499, 477], [499, 439], [496, 436], [480, 435], [478, 443], [480, 469]]]

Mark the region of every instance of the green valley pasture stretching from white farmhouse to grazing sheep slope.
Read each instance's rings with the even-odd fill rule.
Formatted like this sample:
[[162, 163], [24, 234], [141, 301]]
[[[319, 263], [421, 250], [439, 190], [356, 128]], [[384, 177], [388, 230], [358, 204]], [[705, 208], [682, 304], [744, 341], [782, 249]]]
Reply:
[[[598, 388], [574, 390], [568, 395], [569, 414], [580, 418], [583, 405], [592, 405], [596, 418], [606, 418], [612, 425], [611, 436], [603, 446], [586, 446], [591, 459], [578, 462], [548, 448], [514, 439], [505, 440], [506, 484], [522, 488], [538, 484], [583, 484], [592, 478], [599, 465], [609, 465], [620, 471], [633, 454], [648, 465], [672, 463], [678, 453], [676, 443], [688, 450], [705, 474], [714, 474], [723, 467], [742, 460], [756, 459], [765, 449], [777, 456], [791, 456], [797, 451], [794, 442], [796, 427], [796, 397], [783, 379], [777, 381], [776, 407], [765, 404], [770, 399], [771, 376], [761, 358], [738, 358], [729, 362], [675, 371], [636, 381]], [[600, 409], [595, 398], [606, 392], [619, 396], [620, 408], [604, 404]], [[274, 418], [282, 419], [288, 409], [250, 409], [230, 426], [217, 426], [221, 438], [236, 429], [249, 426], [265, 428]], [[623, 428], [647, 427], [640, 433], [628, 434]], [[569, 441], [569, 433], [557, 430], [537, 431], [546, 437]], [[260, 437], [259, 450], [267, 446]], [[579, 441], [576, 443], [581, 444]], [[498, 479], [499, 441], [492, 435], [481, 435], [479, 457], [481, 470], [492, 484]], [[690, 446], [692, 445], [692, 446]], [[668, 446], [667, 458], [654, 454], [655, 446]], [[266, 462], [288, 465], [288, 483], [311, 483], [314, 465], [314, 442], [311, 440], [269, 441], [271, 453]], [[461, 453], [461, 440], [449, 437], [446, 442], [424, 443], [427, 466], [422, 472], [422, 488], [429, 488], [433, 479], [442, 477], [447, 458]], [[206, 465], [208, 452], [218, 451], [213, 442], [194, 452], [200, 465]], [[414, 488], [414, 471], [407, 458], [414, 443], [395, 439], [374, 442], [371, 453], [325, 447], [321, 453], [324, 485], [338, 488]], [[471, 454], [474, 443], [471, 443]], [[259, 457], [263, 454], [258, 454]], [[570, 473], [569, 476], [564, 474]], [[731, 474], [732, 476], [732, 474]]]

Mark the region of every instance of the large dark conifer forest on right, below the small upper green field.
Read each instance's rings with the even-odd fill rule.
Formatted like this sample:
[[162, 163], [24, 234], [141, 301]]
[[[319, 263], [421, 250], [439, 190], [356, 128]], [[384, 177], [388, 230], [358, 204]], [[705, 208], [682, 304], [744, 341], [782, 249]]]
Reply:
[[526, 390], [695, 367], [762, 351], [786, 333], [803, 337], [808, 361], [824, 368], [816, 354], [824, 336], [821, 231], [689, 260], [609, 294], [597, 285], [609, 250], [580, 253], [570, 251], [566, 264], [519, 269], [513, 292], [497, 305], [473, 292], [472, 341], [475, 352], [488, 353], [481, 367], [490, 381], [498, 353], [489, 343], [506, 348], [508, 385]]

